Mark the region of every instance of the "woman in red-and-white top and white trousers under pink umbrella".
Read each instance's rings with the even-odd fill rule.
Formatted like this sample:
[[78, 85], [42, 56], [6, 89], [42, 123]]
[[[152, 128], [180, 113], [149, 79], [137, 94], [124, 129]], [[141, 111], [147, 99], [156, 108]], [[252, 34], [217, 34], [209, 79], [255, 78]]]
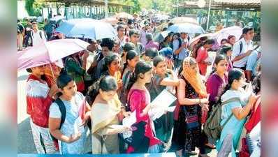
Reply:
[[[27, 114], [31, 116], [30, 126], [38, 154], [55, 154], [54, 141], [48, 129], [49, 108], [57, 85], [45, 77], [45, 66], [28, 68], [31, 73], [27, 79]], [[43, 148], [43, 145], [45, 146]]]

